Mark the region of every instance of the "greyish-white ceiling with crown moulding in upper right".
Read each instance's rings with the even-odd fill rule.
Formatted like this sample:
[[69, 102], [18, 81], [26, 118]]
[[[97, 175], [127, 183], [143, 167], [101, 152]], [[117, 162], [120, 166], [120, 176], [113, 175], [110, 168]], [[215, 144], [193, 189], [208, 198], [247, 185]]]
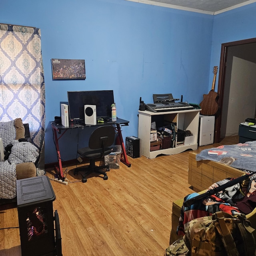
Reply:
[[127, 0], [143, 4], [164, 6], [168, 8], [201, 12], [206, 14], [219, 14], [247, 4], [256, 0]]

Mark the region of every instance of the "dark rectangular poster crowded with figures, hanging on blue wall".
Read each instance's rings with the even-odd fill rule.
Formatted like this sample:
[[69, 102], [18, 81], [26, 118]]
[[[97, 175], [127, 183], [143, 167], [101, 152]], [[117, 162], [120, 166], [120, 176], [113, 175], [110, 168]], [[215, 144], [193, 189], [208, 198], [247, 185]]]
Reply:
[[52, 59], [53, 80], [85, 80], [85, 61]]

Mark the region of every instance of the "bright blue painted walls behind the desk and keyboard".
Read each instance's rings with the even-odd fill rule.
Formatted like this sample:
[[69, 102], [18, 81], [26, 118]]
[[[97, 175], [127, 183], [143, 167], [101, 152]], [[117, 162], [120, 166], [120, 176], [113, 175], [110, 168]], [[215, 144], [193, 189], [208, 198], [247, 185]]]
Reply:
[[[228, 19], [226, 30], [233, 31], [226, 42], [254, 37], [250, 28], [234, 36], [236, 12], [241, 21], [248, 19], [247, 12], [256, 9], [250, 6], [211, 16], [125, 0], [1, 1], [1, 23], [41, 29], [45, 162], [57, 161], [50, 121], [60, 116], [60, 102], [67, 101], [69, 90], [114, 90], [117, 116], [130, 121], [122, 128], [124, 139], [138, 134], [140, 97], [151, 103], [152, 94], [172, 93], [200, 103], [212, 81], [212, 66], [220, 62], [221, 35], [226, 34], [219, 30], [222, 23]], [[86, 80], [53, 81], [52, 58], [85, 59]], [[86, 140], [85, 132], [79, 136]], [[75, 130], [62, 137], [62, 160], [76, 158], [77, 145], [71, 147], [70, 140], [77, 137]]]

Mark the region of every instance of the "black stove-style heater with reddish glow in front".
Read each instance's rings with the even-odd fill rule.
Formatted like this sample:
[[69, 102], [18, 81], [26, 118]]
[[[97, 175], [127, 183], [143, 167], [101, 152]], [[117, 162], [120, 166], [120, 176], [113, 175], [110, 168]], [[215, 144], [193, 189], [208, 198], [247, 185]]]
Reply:
[[37, 176], [16, 184], [22, 256], [61, 256], [60, 224], [57, 210], [53, 214], [55, 194], [49, 178]]

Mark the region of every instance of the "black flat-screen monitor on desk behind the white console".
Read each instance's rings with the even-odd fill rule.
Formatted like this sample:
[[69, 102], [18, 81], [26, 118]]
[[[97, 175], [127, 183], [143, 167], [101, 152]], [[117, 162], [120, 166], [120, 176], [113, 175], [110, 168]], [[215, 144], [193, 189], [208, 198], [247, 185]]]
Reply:
[[113, 90], [68, 92], [70, 120], [84, 120], [84, 105], [96, 105], [97, 117], [108, 118], [113, 103]]

